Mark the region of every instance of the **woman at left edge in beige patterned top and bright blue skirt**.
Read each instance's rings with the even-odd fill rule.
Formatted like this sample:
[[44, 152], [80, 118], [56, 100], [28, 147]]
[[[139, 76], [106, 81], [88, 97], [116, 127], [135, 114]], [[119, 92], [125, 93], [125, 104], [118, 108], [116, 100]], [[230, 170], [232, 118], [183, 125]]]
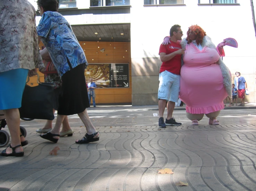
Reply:
[[35, 68], [43, 64], [38, 52], [36, 10], [27, 0], [1, 0], [0, 7], [0, 84], [5, 90], [0, 91], [0, 110], [11, 134], [11, 143], [0, 155], [22, 157], [22, 147], [28, 141], [20, 133], [18, 108], [27, 76], [34, 76]]

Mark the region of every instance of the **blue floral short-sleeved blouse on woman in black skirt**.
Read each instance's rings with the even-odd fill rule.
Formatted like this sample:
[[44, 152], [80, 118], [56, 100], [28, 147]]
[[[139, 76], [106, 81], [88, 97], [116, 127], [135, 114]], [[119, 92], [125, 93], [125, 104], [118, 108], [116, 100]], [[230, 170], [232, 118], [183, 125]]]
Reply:
[[37, 26], [37, 34], [49, 51], [59, 75], [86, 63], [81, 48], [68, 21], [58, 12], [46, 11]]

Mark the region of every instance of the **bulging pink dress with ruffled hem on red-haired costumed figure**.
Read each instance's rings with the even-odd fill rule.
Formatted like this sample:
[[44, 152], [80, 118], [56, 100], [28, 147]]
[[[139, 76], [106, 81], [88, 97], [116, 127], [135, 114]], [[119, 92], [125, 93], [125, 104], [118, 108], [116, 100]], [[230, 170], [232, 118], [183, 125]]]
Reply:
[[180, 70], [179, 98], [186, 104], [186, 112], [211, 113], [224, 108], [228, 96], [223, 84], [220, 56], [216, 49], [204, 47], [202, 51], [193, 43], [186, 45], [184, 64]]

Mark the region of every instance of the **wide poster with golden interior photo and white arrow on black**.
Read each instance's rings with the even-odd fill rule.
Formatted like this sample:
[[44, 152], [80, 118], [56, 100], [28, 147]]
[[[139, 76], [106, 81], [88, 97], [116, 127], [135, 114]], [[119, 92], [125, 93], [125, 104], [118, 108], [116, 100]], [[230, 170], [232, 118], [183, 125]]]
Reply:
[[86, 83], [90, 78], [98, 88], [129, 88], [129, 64], [89, 64]]

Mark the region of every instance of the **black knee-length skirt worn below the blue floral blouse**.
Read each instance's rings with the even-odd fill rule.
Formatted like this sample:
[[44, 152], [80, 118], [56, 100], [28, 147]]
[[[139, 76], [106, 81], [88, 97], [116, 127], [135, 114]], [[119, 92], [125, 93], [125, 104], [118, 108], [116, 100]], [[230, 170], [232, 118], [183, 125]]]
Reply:
[[90, 107], [84, 64], [79, 64], [64, 73], [61, 80], [58, 114], [73, 115]]

